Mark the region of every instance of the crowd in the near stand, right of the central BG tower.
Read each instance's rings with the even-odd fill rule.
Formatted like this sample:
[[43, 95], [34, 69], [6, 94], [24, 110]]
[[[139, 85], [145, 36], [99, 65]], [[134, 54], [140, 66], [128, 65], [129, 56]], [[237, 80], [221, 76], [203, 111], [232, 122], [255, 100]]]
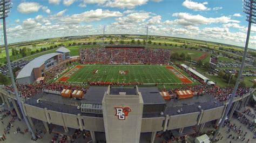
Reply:
[[[175, 95], [176, 91], [180, 90], [191, 90], [197, 95], [201, 94], [210, 94], [214, 96], [219, 101], [227, 101], [230, 99], [233, 92], [233, 87], [219, 87], [219, 86], [210, 86], [210, 85], [194, 85], [194, 86], [183, 86], [180, 88], [174, 88], [167, 90], [170, 95]], [[243, 94], [250, 91], [248, 87], [238, 87], [236, 97], [241, 97]]]

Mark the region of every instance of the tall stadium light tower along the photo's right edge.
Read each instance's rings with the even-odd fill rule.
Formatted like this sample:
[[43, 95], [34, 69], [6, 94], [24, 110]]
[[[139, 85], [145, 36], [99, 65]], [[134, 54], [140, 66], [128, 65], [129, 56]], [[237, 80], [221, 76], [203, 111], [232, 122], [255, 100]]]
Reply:
[[245, 59], [246, 59], [246, 55], [247, 55], [247, 49], [248, 49], [248, 44], [249, 44], [249, 39], [250, 39], [250, 32], [251, 32], [251, 25], [252, 23], [256, 24], [256, 0], [243, 0], [243, 12], [245, 12], [247, 14], [246, 16], [246, 21], [248, 22], [248, 30], [247, 30], [247, 37], [246, 37], [246, 42], [245, 42], [245, 50], [244, 50], [244, 55], [242, 56], [242, 63], [241, 63], [241, 67], [240, 67], [240, 71], [237, 77], [237, 81], [235, 82], [235, 87], [234, 90], [232, 92], [232, 96], [228, 102], [227, 105], [227, 109], [225, 111], [224, 117], [220, 122], [220, 126], [218, 128], [218, 130], [215, 132], [212, 141], [215, 140], [217, 134], [219, 133], [220, 128], [223, 126], [224, 121], [227, 117], [227, 113], [228, 111], [230, 111], [232, 102], [233, 102], [233, 98], [235, 96], [235, 93], [237, 92], [237, 88], [238, 85], [240, 83], [240, 79], [241, 79], [241, 75], [242, 75], [242, 70], [244, 69], [244, 64], [245, 64]]

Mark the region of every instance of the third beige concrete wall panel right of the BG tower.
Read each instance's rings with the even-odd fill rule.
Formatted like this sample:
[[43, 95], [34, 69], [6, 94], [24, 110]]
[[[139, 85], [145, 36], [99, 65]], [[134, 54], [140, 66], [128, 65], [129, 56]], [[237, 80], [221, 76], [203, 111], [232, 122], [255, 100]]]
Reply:
[[212, 121], [221, 118], [221, 113], [224, 110], [224, 106], [218, 107], [218, 108], [213, 108], [210, 110], [205, 110], [203, 117], [200, 121], [200, 123]]

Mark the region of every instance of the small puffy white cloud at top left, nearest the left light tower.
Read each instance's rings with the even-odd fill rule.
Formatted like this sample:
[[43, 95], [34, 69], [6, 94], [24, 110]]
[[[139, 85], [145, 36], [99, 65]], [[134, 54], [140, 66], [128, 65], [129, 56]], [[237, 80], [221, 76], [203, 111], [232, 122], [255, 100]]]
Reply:
[[23, 2], [17, 7], [17, 10], [21, 13], [28, 14], [32, 12], [37, 12], [42, 6], [35, 2]]

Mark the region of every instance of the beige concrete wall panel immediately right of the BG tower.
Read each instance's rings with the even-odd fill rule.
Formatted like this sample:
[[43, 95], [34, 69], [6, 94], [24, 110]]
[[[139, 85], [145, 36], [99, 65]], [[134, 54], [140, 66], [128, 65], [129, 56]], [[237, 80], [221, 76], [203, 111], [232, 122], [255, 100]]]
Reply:
[[153, 132], [153, 131], [161, 131], [164, 129], [163, 121], [164, 117], [158, 118], [143, 118], [142, 119], [142, 130], [140, 132]]

